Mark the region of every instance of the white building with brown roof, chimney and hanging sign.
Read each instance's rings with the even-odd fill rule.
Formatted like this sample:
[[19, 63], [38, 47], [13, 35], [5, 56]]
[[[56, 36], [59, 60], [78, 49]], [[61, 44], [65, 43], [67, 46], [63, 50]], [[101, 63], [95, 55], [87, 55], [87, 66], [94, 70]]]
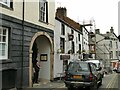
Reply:
[[54, 32], [54, 78], [60, 77], [66, 65], [81, 58], [82, 34], [80, 25], [67, 17], [66, 8], [58, 8]]

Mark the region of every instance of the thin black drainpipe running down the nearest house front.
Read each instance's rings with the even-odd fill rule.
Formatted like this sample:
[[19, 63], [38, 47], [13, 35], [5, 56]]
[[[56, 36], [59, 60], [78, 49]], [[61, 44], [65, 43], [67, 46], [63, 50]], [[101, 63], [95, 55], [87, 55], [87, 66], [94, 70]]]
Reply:
[[21, 83], [20, 87], [23, 87], [23, 61], [24, 61], [24, 0], [23, 0], [23, 10], [22, 10], [22, 60], [21, 60]]

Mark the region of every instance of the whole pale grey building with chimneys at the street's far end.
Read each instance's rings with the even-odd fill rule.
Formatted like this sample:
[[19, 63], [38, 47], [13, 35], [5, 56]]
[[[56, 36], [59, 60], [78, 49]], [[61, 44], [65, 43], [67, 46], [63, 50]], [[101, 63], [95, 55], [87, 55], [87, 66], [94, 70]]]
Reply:
[[101, 34], [96, 30], [96, 59], [102, 59], [106, 68], [111, 67], [111, 61], [118, 60], [118, 38], [113, 27], [110, 32]]

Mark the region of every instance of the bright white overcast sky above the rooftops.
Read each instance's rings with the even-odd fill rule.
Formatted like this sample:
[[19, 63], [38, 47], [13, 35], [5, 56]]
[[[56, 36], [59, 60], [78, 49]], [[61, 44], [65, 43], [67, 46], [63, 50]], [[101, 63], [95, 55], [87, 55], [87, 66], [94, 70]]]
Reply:
[[66, 7], [67, 17], [83, 24], [94, 21], [94, 27], [105, 34], [114, 28], [118, 36], [118, 2], [120, 0], [55, 0], [57, 7]]

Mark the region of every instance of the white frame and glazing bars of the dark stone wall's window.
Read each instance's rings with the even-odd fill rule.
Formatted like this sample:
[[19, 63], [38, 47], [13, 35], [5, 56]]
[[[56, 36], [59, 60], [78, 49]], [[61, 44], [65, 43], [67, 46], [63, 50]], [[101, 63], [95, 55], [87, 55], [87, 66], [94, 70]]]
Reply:
[[[2, 56], [2, 55], [0, 55], [0, 60], [1, 59], [8, 59], [8, 30], [9, 30], [9, 28], [6, 28], [6, 27], [0, 27], [0, 29], [1, 29], [1, 33], [0, 33], [0, 44], [5, 44], [6, 45], [6, 47], [5, 47], [5, 50], [4, 50], [4, 56]], [[6, 35], [3, 35], [3, 30], [6, 30]], [[2, 40], [3, 39], [3, 37], [6, 37], [6, 39], [5, 39], [5, 42]], [[1, 54], [3, 54], [2, 53], [2, 51], [3, 51], [3, 49], [2, 49], [2, 45], [0, 46], [0, 52], [1, 52]]]

